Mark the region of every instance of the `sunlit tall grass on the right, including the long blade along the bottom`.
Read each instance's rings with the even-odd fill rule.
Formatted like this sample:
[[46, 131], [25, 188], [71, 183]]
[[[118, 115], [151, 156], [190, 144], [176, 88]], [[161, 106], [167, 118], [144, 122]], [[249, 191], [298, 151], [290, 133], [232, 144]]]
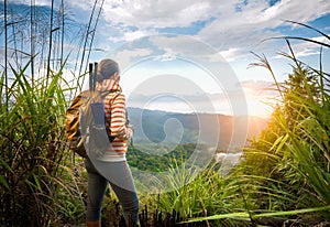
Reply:
[[[280, 54], [293, 62], [293, 73], [284, 83], [276, 79], [265, 56], [255, 55], [258, 63], [252, 65], [270, 71], [280, 96], [266, 129], [251, 141], [250, 147], [244, 148], [244, 161], [227, 177], [227, 184], [231, 183], [228, 185], [240, 188], [231, 192], [232, 197], [226, 199], [231, 209], [224, 213], [215, 210], [207, 217], [199, 215], [188, 223], [244, 220], [245, 225], [252, 226], [283, 226], [284, 223], [295, 226], [329, 225], [330, 75], [322, 69], [321, 60], [322, 48], [329, 47], [327, 42], [330, 37], [305, 26], [323, 35], [327, 41], [284, 37], [289, 53]], [[295, 56], [292, 39], [321, 46], [319, 68]], [[204, 191], [206, 182], [196, 181], [193, 185], [195, 183], [196, 188], [209, 198]], [[217, 188], [222, 184], [211, 185]], [[239, 196], [243, 197], [243, 206], [238, 204], [235, 209], [233, 203], [238, 202]], [[215, 203], [217, 199], [224, 202], [221, 193], [211, 201]]]

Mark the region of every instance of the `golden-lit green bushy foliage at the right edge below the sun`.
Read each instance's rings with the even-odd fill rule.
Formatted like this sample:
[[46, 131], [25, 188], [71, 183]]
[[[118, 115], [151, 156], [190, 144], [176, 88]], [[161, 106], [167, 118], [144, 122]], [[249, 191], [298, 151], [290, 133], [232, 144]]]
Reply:
[[[296, 197], [295, 203], [284, 204], [280, 198], [268, 204], [268, 207], [260, 204], [261, 208], [288, 210], [327, 207], [330, 205], [329, 74], [322, 71], [321, 63], [320, 69], [316, 69], [298, 61], [289, 41], [286, 41], [290, 54], [282, 54], [294, 62], [293, 73], [286, 82], [276, 82], [282, 100], [267, 128], [245, 149], [246, 156], [242, 165], [251, 175], [268, 177], [266, 187], [274, 187], [275, 181], [280, 183], [280, 187], [277, 183], [280, 191], [295, 195], [292, 198]], [[258, 65], [272, 72], [265, 58]], [[330, 219], [328, 210], [318, 214]]]

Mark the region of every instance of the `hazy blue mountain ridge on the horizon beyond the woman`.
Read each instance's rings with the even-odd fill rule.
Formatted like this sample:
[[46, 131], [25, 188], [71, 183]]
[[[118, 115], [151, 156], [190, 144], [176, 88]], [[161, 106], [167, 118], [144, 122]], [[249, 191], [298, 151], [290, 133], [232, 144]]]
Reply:
[[258, 117], [218, 114], [179, 114], [128, 108], [134, 141], [146, 143], [206, 143], [235, 150], [256, 137], [267, 123]]

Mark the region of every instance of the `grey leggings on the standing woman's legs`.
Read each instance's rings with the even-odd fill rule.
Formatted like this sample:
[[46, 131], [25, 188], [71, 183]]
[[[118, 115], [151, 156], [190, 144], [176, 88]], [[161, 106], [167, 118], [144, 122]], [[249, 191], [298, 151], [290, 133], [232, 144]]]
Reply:
[[91, 162], [89, 159], [85, 159], [85, 167], [88, 173], [86, 219], [88, 221], [100, 219], [102, 202], [109, 182], [123, 208], [127, 225], [136, 226], [139, 198], [128, 163], [125, 161], [101, 162], [95, 160]]

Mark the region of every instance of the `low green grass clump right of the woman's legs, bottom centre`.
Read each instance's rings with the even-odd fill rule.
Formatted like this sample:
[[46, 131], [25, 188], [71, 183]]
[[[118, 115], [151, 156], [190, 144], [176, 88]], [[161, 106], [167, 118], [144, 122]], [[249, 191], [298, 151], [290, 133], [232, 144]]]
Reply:
[[[157, 212], [178, 214], [183, 220], [245, 210], [243, 177], [221, 174], [221, 165], [211, 164], [201, 172], [187, 162], [173, 162], [168, 170], [168, 192], [148, 195], [142, 203], [156, 204]], [[245, 226], [234, 220], [205, 221], [202, 226]]]

